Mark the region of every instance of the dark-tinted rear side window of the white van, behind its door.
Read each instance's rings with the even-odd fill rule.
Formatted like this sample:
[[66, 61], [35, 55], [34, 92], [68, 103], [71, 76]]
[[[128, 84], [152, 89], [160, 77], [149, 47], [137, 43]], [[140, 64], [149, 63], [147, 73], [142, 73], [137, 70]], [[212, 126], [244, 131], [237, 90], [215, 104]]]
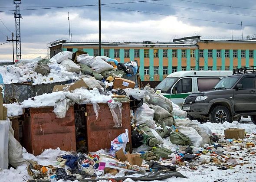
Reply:
[[209, 91], [219, 81], [220, 78], [197, 78], [198, 91]]

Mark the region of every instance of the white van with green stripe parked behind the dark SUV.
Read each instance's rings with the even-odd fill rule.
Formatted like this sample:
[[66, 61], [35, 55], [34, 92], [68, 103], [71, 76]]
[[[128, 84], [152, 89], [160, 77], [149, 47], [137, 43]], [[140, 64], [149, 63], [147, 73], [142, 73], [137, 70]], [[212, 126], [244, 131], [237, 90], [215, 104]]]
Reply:
[[232, 74], [233, 71], [177, 71], [164, 78], [155, 90], [161, 90], [164, 97], [182, 107], [189, 94], [209, 91], [223, 77]]

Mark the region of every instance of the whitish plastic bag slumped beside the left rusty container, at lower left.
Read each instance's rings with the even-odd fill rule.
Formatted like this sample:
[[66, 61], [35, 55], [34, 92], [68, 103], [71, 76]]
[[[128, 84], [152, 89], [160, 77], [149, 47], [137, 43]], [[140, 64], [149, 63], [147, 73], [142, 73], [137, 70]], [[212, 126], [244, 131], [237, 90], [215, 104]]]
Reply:
[[9, 129], [9, 151], [8, 151], [8, 156], [9, 156], [9, 163], [13, 167], [18, 167], [24, 164], [27, 160], [23, 159], [23, 150], [22, 146], [20, 145], [20, 142], [18, 142], [14, 138], [14, 131], [13, 128], [10, 126]]

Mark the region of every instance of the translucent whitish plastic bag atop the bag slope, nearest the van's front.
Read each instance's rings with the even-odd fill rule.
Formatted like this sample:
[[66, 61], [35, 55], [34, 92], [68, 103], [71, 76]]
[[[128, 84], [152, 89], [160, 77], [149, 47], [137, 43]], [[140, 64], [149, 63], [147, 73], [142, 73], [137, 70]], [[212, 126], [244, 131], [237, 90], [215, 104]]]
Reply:
[[150, 88], [149, 84], [144, 87], [144, 91], [145, 100], [148, 102], [148, 104], [158, 105], [163, 107], [168, 112], [172, 112], [172, 102], [166, 97], [156, 94], [154, 89]]

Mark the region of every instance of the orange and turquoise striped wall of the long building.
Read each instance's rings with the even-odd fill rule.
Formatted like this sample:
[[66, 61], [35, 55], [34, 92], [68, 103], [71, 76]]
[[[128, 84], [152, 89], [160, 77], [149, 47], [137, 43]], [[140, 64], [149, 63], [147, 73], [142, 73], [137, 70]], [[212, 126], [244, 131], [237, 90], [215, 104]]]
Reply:
[[[122, 47], [117, 46], [102, 47], [102, 55], [104, 49], [108, 49], [108, 57], [115, 58], [119, 62], [128, 62], [138, 60], [140, 67], [140, 76], [142, 81], [161, 81], [167, 75], [174, 71], [182, 70], [232, 70], [233, 68], [243, 66], [256, 66], [256, 43], [223, 43], [223, 42], [198, 42], [198, 47]], [[89, 55], [94, 55], [94, 50], [98, 46], [63, 46], [63, 51], [77, 51], [82, 49], [88, 52]], [[119, 55], [115, 56], [115, 49], [119, 50]], [[125, 49], [129, 50], [128, 58], [125, 58]], [[139, 49], [139, 57], [135, 57], [135, 50]], [[144, 49], [148, 49], [148, 57], [144, 57]], [[154, 57], [154, 49], [158, 49], [158, 57]], [[167, 57], [163, 57], [164, 49], [167, 49]], [[190, 51], [194, 50], [194, 56], [190, 56]], [[200, 50], [203, 51], [203, 57], [200, 57]], [[173, 52], [177, 51], [177, 57], [173, 56]], [[212, 56], [208, 56], [208, 52], [212, 51]], [[220, 57], [217, 52], [220, 51]], [[225, 51], [228, 51], [229, 57], [225, 57]], [[245, 57], [241, 57], [241, 52], [244, 51]], [[253, 57], [249, 58], [249, 52], [253, 51]], [[185, 52], [186, 56], [182, 56]], [[233, 52], [236, 52], [237, 57], [233, 57]], [[95, 56], [95, 55], [94, 55]], [[199, 62], [199, 67], [197, 62]], [[158, 73], [155, 70], [158, 68]], [[167, 70], [166, 70], [167, 69]]]

